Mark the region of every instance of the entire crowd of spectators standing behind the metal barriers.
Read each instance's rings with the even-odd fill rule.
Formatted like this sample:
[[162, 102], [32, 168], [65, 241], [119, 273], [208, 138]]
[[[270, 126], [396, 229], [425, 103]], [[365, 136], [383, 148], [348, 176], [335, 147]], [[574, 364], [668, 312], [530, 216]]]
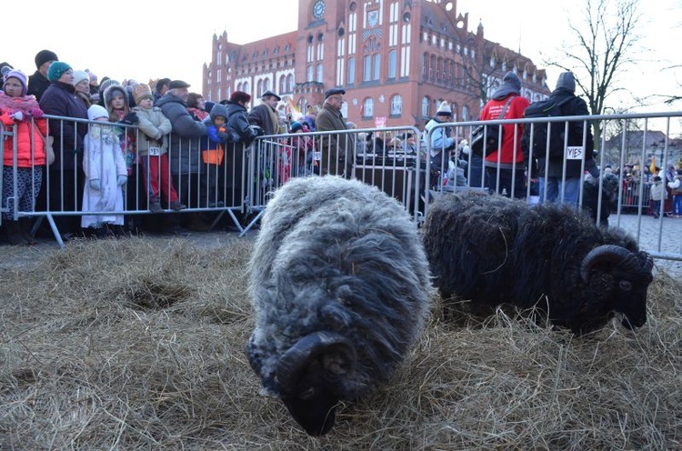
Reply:
[[[244, 156], [238, 149], [260, 135], [281, 135], [275, 141], [276, 175], [265, 175], [276, 176], [280, 185], [292, 176], [350, 177], [357, 155], [389, 152], [421, 157], [435, 184], [449, 190], [466, 186], [524, 197], [527, 183], [536, 180], [533, 192], [540, 202], [577, 203], [582, 168], [599, 176], [592, 134], [589, 127], [584, 130], [583, 121], [571, 123], [568, 143], [584, 145], [586, 151], [566, 162], [564, 174], [563, 160], [529, 155], [523, 125], [503, 125], [495, 151], [476, 152], [460, 133], [444, 126], [453, 119], [446, 102], [424, 128], [422, 136], [431, 140], [426, 143], [417, 142], [409, 130], [348, 133], [356, 125], [342, 115], [346, 92], [338, 87], [326, 90], [324, 105], [309, 105], [305, 115], [283, 117], [277, 109], [281, 97], [269, 90], [250, 109], [252, 97], [241, 91], [214, 104], [190, 92], [191, 86], [182, 80], [159, 78], [151, 86], [132, 79], [99, 80], [94, 72], [75, 70], [50, 50], [35, 55], [36, 70], [30, 76], [7, 63], [1, 66], [0, 117], [4, 128], [15, 127], [16, 135], [16, 154], [13, 140], [5, 138], [3, 167], [2, 228], [12, 245], [35, 243], [29, 233], [33, 223], [27, 215], [15, 221], [16, 209], [79, 213], [54, 216], [68, 239], [126, 236], [142, 230], [144, 216], [121, 215], [124, 210], [160, 214], [222, 207], [227, 199], [221, 193], [229, 189], [234, 195], [241, 186], [239, 171], [225, 170], [228, 155], [233, 165], [242, 167]], [[563, 115], [587, 115], [587, 105], [575, 90], [572, 73], [559, 75], [550, 99], [564, 105]], [[528, 105], [521, 81], [509, 72], [479, 119], [521, 118]], [[339, 133], [309, 135], [332, 131]], [[670, 215], [676, 217], [682, 217], [680, 173], [667, 171], [663, 190], [675, 199]], [[652, 190], [653, 202], [665, 200], [659, 193]], [[207, 229], [206, 215], [196, 211], [166, 214], [153, 223], [169, 234]]]

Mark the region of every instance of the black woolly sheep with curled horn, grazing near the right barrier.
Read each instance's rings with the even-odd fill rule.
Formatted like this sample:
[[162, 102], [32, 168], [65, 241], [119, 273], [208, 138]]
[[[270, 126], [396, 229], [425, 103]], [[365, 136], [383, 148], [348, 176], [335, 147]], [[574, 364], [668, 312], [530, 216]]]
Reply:
[[424, 245], [446, 306], [453, 296], [474, 312], [536, 306], [575, 334], [604, 326], [614, 312], [627, 328], [647, 321], [651, 256], [575, 206], [441, 195], [426, 216]]

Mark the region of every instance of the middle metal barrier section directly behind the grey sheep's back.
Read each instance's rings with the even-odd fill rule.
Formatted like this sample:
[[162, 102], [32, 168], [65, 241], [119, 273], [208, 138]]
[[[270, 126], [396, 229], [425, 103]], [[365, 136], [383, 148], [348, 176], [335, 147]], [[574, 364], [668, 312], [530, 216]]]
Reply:
[[360, 179], [404, 203], [417, 218], [423, 214], [419, 138], [414, 127], [259, 136], [248, 152], [246, 211], [253, 216], [242, 235], [265, 211], [269, 193], [294, 176]]

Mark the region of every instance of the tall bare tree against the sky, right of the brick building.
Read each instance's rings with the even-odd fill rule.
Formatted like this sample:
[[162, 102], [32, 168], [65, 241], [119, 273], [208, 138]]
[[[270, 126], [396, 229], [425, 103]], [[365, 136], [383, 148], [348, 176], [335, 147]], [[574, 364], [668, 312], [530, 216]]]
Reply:
[[[570, 20], [573, 45], [564, 48], [566, 64], [551, 63], [563, 70], [577, 71], [577, 85], [587, 98], [592, 115], [601, 115], [607, 97], [624, 89], [619, 85], [627, 65], [635, 63], [634, 55], [640, 35], [639, 0], [587, 0], [578, 21]], [[586, 77], [581, 77], [585, 73]], [[594, 125], [595, 142], [600, 142], [600, 125]]]

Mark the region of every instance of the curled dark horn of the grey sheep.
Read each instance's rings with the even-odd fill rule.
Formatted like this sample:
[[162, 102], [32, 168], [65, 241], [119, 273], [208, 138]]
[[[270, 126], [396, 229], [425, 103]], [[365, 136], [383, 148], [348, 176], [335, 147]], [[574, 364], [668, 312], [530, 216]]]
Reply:
[[356, 369], [356, 348], [345, 337], [336, 332], [316, 332], [304, 336], [279, 359], [276, 376], [279, 385], [286, 391], [293, 388], [306, 366], [317, 356], [339, 354], [344, 366], [330, 366], [337, 374], [352, 374]]

